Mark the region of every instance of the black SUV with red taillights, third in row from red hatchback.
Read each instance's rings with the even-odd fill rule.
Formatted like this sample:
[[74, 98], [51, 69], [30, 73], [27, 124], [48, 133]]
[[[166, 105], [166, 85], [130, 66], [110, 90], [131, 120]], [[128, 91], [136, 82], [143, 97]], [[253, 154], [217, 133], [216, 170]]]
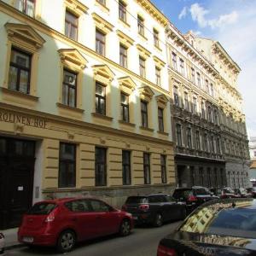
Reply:
[[186, 203], [188, 212], [192, 212], [196, 207], [206, 201], [218, 199], [218, 196], [213, 195], [209, 189], [199, 186], [175, 189], [172, 196], [177, 201], [183, 201]]

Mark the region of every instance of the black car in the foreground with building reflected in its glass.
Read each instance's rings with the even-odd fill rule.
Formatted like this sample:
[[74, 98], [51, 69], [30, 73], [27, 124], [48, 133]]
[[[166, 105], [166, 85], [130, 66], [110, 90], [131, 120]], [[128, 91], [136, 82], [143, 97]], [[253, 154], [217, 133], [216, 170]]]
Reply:
[[160, 240], [157, 255], [256, 255], [256, 200], [208, 201]]

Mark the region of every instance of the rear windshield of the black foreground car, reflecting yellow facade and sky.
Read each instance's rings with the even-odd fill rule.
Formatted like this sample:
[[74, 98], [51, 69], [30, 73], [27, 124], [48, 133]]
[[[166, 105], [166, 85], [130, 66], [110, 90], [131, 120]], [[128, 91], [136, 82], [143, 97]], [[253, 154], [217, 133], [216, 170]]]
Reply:
[[[187, 218], [181, 231], [223, 236], [256, 238], [256, 209], [252, 201], [232, 202], [200, 207]], [[239, 207], [242, 206], [242, 207]]]

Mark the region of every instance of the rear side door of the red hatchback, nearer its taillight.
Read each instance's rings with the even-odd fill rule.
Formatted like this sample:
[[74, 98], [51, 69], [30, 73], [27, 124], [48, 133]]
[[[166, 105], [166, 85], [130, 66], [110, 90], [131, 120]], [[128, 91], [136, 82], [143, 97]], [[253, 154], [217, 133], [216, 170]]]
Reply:
[[70, 210], [70, 223], [75, 226], [79, 241], [98, 236], [96, 214], [88, 200], [69, 201], [65, 206]]

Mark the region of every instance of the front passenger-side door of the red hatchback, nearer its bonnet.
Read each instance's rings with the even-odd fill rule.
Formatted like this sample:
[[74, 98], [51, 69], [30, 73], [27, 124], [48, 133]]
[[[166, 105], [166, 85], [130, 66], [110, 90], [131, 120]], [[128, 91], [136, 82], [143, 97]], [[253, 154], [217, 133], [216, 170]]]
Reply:
[[90, 205], [96, 215], [99, 236], [113, 234], [119, 230], [119, 211], [100, 200], [90, 200]]

